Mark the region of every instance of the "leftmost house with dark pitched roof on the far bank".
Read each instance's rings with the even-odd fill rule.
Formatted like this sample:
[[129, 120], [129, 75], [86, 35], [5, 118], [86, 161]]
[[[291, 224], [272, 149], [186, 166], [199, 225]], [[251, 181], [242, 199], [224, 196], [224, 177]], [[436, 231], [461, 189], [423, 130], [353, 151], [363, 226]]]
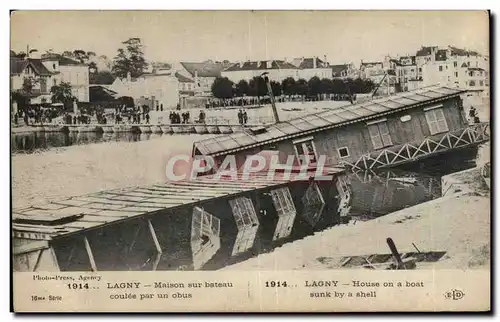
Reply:
[[[12, 92], [27, 95], [32, 104], [50, 102], [50, 84], [54, 73], [50, 72], [40, 59], [10, 58], [10, 88]], [[30, 83], [32, 88], [25, 91], [24, 83]]]

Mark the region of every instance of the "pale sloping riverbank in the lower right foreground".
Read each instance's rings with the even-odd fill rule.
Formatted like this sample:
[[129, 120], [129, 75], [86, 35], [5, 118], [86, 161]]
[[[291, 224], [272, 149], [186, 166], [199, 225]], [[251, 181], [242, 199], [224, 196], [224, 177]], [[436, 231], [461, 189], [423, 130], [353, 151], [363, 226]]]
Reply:
[[388, 237], [401, 253], [415, 252], [413, 244], [422, 252], [446, 251], [425, 268], [488, 269], [490, 199], [476, 195], [435, 199], [378, 219], [335, 226], [224, 269], [332, 269], [342, 256], [390, 254]]

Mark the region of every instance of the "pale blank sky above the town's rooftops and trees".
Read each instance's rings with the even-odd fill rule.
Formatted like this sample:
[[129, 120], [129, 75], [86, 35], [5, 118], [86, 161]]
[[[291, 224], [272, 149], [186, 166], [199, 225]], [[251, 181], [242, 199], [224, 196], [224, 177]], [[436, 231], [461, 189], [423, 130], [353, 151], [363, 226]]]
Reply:
[[489, 51], [486, 11], [17, 11], [11, 49], [83, 49], [113, 58], [138, 37], [148, 61], [293, 59], [332, 64], [415, 54], [422, 45]]

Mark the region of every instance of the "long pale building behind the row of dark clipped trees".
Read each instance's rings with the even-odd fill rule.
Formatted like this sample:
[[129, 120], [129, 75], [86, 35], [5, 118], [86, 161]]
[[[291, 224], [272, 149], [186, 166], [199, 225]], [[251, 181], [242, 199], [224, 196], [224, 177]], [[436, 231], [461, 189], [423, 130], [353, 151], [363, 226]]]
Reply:
[[284, 60], [239, 62], [223, 70], [221, 74], [222, 77], [227, 77], [232, 82], [238, 83], [240, 80], [248, 82], [264, 72], [269, 73], [270, 80], [277, 82], [282, 82], [288, 77], [296, 80], [300, 78], [298, 67]]

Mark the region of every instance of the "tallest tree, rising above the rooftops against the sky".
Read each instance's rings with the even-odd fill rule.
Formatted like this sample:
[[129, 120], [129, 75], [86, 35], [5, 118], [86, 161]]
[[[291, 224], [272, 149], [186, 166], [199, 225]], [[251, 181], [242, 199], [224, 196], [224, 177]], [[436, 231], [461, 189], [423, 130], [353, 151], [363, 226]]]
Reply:
[[132, 77], [138, 77], [148, 67], [142, 51], [143, 45], [140, 38], [130, 38], [124, 42], [125, 48], [119, 48], [114, 58], [112, 72], [115, 76], [125, 78], [130, 73]]

